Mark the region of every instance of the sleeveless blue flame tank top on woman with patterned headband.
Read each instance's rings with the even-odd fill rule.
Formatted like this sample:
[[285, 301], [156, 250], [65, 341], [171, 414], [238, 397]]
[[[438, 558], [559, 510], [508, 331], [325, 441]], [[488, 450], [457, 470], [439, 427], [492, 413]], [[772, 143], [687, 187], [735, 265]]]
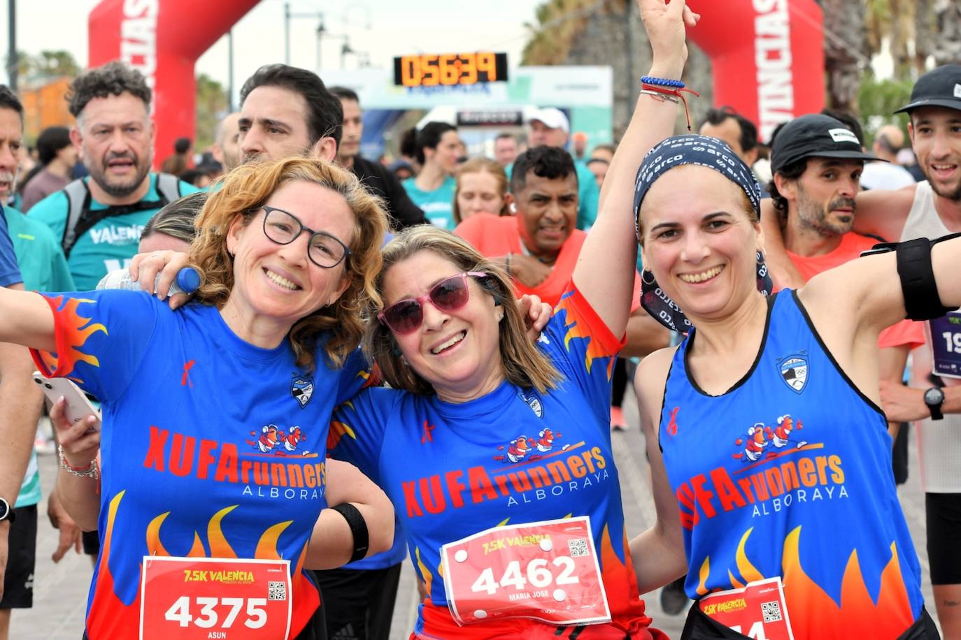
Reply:
[[752, 369], [726, 393], [708, 395], [688, 375], [693, 331], [668, 376], [658, 435], [687, 594], [779, 576], [798, 640], [897, 638], [923, 597], [884, 415], [834, 362], [795, 292], [768, 313]]

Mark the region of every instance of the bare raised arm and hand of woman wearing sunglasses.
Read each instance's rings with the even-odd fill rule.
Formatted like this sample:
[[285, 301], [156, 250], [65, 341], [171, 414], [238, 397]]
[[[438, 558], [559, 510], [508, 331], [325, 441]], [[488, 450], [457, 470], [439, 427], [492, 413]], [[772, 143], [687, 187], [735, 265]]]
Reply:
[[[637, 0], [653, 48], [649, 75], [679, 80], [687, 59], [685, 27], [698, 16], [683, 0]], [[637, 259], [634, 233], [634, 178], [644, 155], [674, 132], [678, 106], [658, 96], [639, 95], [628, 130], [604, 180], [598, 218], [580, 249], [574, 283], [615, 336], [624, 335]]]

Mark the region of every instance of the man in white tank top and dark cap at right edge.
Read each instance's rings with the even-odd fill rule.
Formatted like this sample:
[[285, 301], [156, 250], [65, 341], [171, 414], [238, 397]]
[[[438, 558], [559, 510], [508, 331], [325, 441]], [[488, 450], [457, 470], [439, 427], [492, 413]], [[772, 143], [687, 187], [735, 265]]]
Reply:
[[[897, 191], [883, 191], [882, 186], [859, 193], [854, 231], [892, 242], [959, 232], [961, 65], [947, 64], [924, 74], [911, 92], [911, 103], [900, 111], [910, 115], [911, 146], [927, 179]], [[776, 284], [801, 286], [803, 280], [783, 250], [774, 207], [764, 207], [762, 214], [767, 264]], [[961, 322], [961, 314], [956, 321]], [[951, 326], [961, 336], [961, 324]], [[927, 343], [912, 351], [911, 386], [882, 381], [881, 400], [889, 420], [918, 421], [934, 601], [945, 640], [961, 640], [961, 378], [930, 377], [932, 340], [949, 341], [933, 345], [942, 353], [961, 355], [953, 331], [945, 328], [939, 326], [934, 336], [928, 328]], [[951, 335], [946, 338], [945, 333]], [[961, 337], [956, 340], [961, 344]]]

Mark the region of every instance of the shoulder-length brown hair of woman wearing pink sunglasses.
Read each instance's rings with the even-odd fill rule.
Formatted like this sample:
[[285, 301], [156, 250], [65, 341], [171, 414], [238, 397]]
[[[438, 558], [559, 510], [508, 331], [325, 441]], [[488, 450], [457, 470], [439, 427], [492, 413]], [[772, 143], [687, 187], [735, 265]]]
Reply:
[[404, 364], [394, 335], [377, 319], [382, 308], [385, 274], [392, 266], [420, 251], [432, 251], [450, 260], [464, 272], [487, 273], [487, 277], [477, 282], [504, 309], [504, 320], [499, 325], [499, 342], [505, 378], [518, 387], [533, 387], [542, 393], [554, 387], [560, 374], [528, 337], [510, 277], [464, 240], [450, 231], [431, 225], [411, 226], [383, 249], [383, 268], [374, 282], [378, 296], [371, 296], [366, 312], [364, 349], [368, 357], [381, 367], [384, 380], [395, 389], [424, 395], [434, 392], [429, 382]]

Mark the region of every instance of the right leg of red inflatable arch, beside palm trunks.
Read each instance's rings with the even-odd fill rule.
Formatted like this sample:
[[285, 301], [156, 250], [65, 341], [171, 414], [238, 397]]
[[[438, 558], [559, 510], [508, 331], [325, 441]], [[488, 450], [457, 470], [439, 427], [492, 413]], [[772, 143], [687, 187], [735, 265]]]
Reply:
[[[714, 103], [771, 131], [825, 107], [824, 21], [814, 0], [689, 0], [691, 39], [711, 59]], [[697, 88], [697, 87], [694, 87]]]

